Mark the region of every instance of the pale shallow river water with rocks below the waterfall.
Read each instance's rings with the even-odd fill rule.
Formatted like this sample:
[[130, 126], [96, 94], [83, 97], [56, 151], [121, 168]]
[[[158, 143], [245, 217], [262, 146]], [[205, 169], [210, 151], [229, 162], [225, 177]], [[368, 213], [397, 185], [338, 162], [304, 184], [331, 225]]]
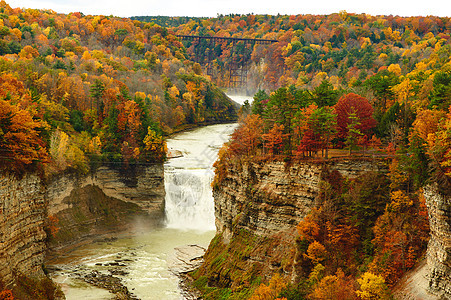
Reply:
[[[211, 231], [201, 233], [169, 228], [135, 232], [133, 236], [124, 233], [122, 237], [78, 247], [54, 260], [49, 270], [67, 300], [78, 300], [89, 293], [91, 298], [87, 299], [111, 299], [114, 294], [105, 294], [105, 289], [111, 280], [117, 283], [118, 279], [132, 296], [139, 299], [180, 300], [181, 295], [188, 293], [182, 290], [182, 278], [169, 270], [175, 249], [193, 241], [206, 248], [213, 236]], [[95, 278], [93, 274], [96, 274]], [[102, 278], [107, 280], [103, 286]], [[98, 283], [95, 286], [103, 289], [93, 289], [94, 280]]]

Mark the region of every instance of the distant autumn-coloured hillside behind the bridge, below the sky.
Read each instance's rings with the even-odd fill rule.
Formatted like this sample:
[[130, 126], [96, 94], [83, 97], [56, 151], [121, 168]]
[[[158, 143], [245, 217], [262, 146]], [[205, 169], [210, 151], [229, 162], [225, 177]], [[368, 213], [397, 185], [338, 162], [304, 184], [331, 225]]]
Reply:
[[[436, 69], [436, 64], [446, 63], [450, 53], [451, 20], [445, 17], [371, 16], [341, 11], [330, 15], [152, 18], [155, 23], [161, 18], [159, 24], [176, 34], [279, 40], [251, 49], [238, 43], [235, 52], [228, 42], [212, 46], [205, 41], [196, 46], [200, 47], [198, 53], [212, 53], [210, 68], [216, 70], [217, 84], [228, 85], [228, 73], [221, 70], [227, 70], [234, 56], [235, 63], [247, 65], [248, 84], [254, 90], [287, 84], [316, 87], [324, 79], [335, 87], [356, 87], [391, 65], [399, 66], [400, 74], [422, 67], [421, 62]], [[194, 53], [193, 43], [186, 42], [185, 46], [188, 53]]]

